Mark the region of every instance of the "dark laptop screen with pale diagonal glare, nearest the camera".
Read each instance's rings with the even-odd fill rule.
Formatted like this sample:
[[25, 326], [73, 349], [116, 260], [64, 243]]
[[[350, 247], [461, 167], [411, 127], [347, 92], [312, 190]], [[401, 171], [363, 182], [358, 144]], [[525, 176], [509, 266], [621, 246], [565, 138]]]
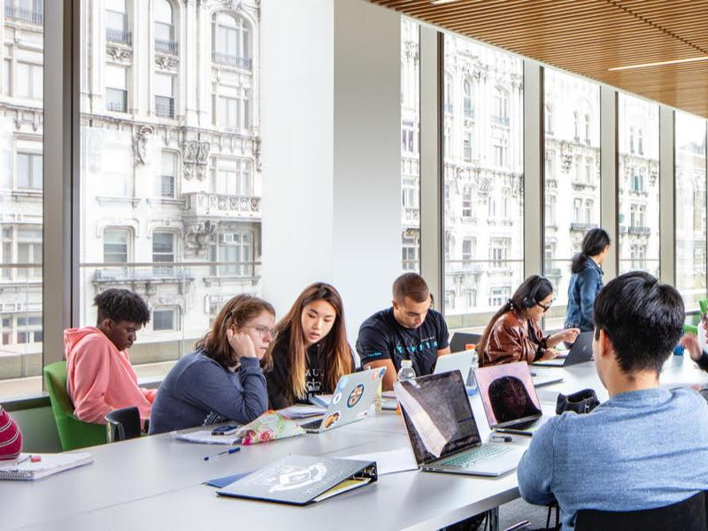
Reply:
[[396, 382], [395, 387], [419, 465], [481, 443], [458, 371]]

